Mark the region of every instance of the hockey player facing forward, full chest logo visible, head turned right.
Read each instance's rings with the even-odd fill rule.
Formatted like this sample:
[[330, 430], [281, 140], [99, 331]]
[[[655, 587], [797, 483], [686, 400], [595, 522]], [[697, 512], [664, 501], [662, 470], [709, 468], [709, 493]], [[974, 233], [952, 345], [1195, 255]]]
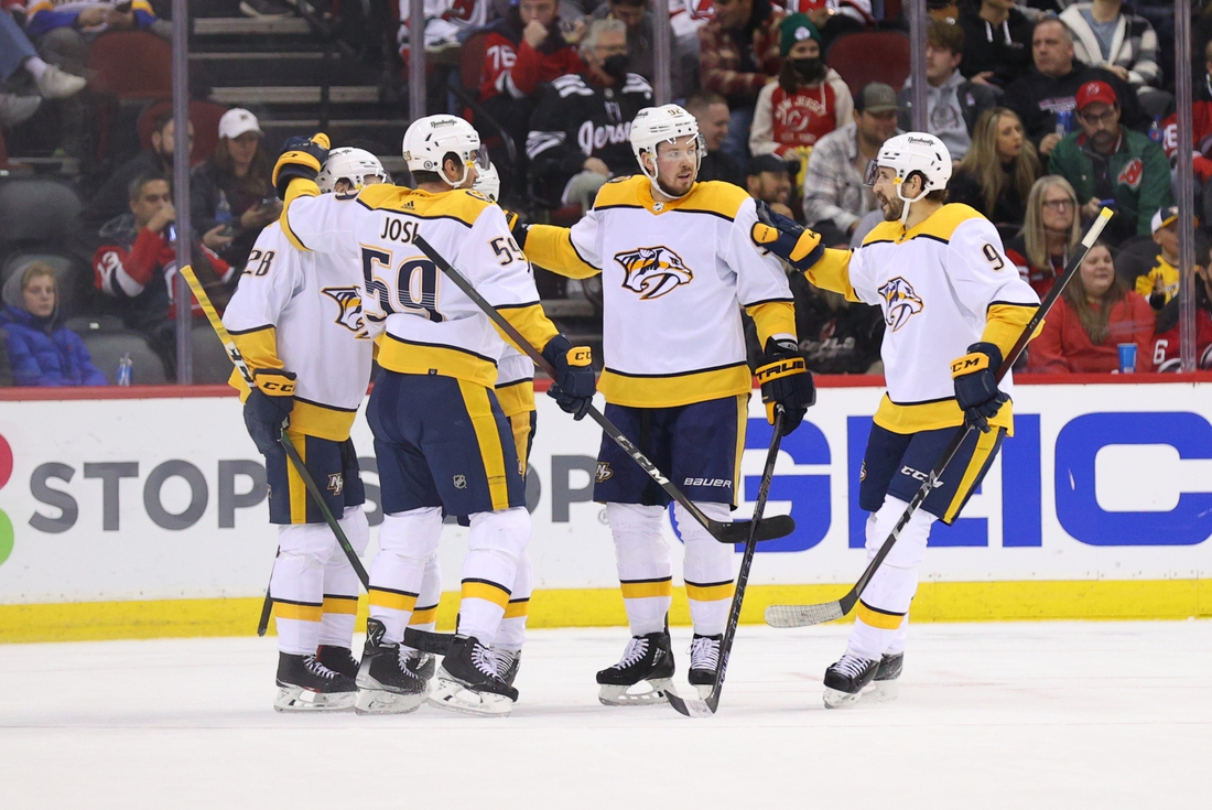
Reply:
[[[754, 200], [736, 186], [696, 182], [698, 124], [676, 104], [640, 110], [630, 130], [641, 175], [606, 183], [571, 229], [518, 227], [536, 266], [570, 278], [602, 274], [601, 390], [606, 416], [708, 517], [737, 504], [753, 377], [741, 308], [765, 347], [762, 400], [794, 430], [814, 400], [797, 352], [787, 275], [749, 239]], [[606, 503], [631, 640], [598, 673], [607, 705], [663, 701], [674, 674], [667, 628], [673, 566], [661, 536], [669, 496], [604, 437], [594, 500]], [[694, 637], [690, 681], [710, 690], [733, 593], [733, 549], [681, 506], [684, 580]], [[648, 681], [647, 691], [630, 688]]]

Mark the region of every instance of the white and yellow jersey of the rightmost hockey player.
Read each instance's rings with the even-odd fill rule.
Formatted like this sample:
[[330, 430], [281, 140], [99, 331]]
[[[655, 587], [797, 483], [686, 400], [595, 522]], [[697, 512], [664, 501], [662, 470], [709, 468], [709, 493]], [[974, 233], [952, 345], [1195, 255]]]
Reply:
[[[853, 251], [825, 251], [808, 280], [884, 312], [887, 394], [876, 424], [896, 433], [959, 426], [951, 361], [979, 341], [1007, 354], [1040, 306], [997, 229], [966, 205], [944, 205], [914, 228], [881, 222]], [[1013, 393], [1010, 372], [1001, 390]], [[989, 420], [1012, 428], [1007, 405]]]

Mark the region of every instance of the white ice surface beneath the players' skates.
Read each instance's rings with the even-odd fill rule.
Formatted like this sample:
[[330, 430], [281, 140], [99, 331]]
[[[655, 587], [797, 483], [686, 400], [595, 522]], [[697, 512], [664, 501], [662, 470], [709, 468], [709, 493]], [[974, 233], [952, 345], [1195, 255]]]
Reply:
[[278, 714], [271, 639], [0, 645], [0, 809], [1212, 808], [1212, 622], [922, 624], [828, 711], [845, 633], [742, 627], [705, 720], [598, 703], [621, 628], [533, 632], [508, 719]]

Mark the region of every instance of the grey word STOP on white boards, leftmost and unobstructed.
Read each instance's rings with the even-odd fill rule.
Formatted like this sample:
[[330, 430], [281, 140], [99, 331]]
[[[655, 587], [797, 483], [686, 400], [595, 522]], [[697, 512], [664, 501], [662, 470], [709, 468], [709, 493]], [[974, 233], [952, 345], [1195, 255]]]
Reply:
[[[118, 531], [121, 527], [121, 481], [126, 478], [139, 478], [137, 461], [85, 462], [84, 479], [101, 480], [101, 527], [103, 531]], [[29, 492], [39, 503], [50, 507], [47, 513], [34, 512], [29, 525], [38, 531], [57, 535], [68, 531], [80, 519], [80, 502], [76, 496], [85, 496], [76, 487], [65, 487], [76, 475], [76, 468], [61, 462], [47, 462], [34, 468], [29, 477]], [[171, 479], [181, 479], [189, 492], [184, 508], [171, 512], [165, 506], [165, 487]], [[241, 479], [240, 487], [236, 479]], [[265, 468], [256, 461], [245, 458], [219, 461], [216, 468], [218, 527], [235, 527], [235, 510], [255, 507], [265, 500], [269, 487], [265, 485]], [[87, 485], [93, 486], [93, 485]], [[179, 492], [179, 484], [171, 490]], [[73, 492], [72, 490], [75, 490]], [[196, 524], [210, 503], [210, 485], [202, 470], [188, 461], [173, 458], [156, 464], [143, 479], [143, 508], [152, 523], [161, 529], [179, 531]], [[170, 503], [181, 498], [170, 497]]]

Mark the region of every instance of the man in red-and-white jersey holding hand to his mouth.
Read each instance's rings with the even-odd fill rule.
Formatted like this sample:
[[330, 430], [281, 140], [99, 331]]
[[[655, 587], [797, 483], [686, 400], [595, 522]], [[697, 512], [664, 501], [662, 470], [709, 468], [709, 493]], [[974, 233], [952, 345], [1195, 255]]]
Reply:
[[[159, 175], [137, 177], [130, 187], [130, 209], [101, 229], [102, 245], [92, 259], [93, 281], [113, 301], [122, 323], [152, 340], [171, 370], [176, 365], [177, 210], [168, 181]], [[230, 295], [227, 285], [235, 278], [234, 268], [198, 240], [193, 256], [194, 272], [222, 309]], [[201, 314], [194, 304], [194, 315]]]

